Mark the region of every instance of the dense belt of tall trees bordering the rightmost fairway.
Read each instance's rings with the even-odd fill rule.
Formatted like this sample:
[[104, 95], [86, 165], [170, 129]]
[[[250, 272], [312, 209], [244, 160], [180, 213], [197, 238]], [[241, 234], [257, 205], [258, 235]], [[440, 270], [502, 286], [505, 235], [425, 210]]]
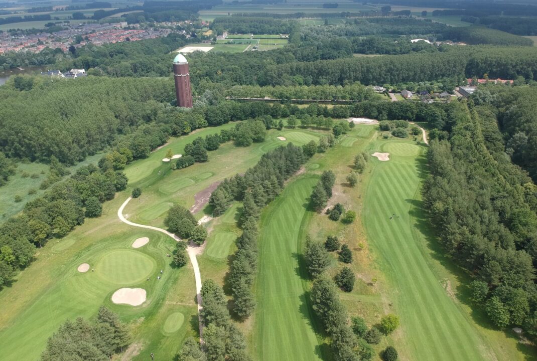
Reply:
[[448, 140], [427, 152], [423, 206], [449, 256], [474, 279], [471, 300], [499, 328], [537, 335], [535, 185], [505, 156], [494, 113], [471, 102], [446, 108]]

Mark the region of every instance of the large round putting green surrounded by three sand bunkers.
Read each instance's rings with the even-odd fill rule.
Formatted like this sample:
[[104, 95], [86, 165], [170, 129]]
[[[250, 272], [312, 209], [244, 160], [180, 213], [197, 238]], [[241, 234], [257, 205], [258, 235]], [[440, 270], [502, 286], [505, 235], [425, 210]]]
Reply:
[[145, 281], [155, 266], [155, 261], [142, 252], [118, 249], [101, 257], [95, 272], [107, 282], [128, 286]]

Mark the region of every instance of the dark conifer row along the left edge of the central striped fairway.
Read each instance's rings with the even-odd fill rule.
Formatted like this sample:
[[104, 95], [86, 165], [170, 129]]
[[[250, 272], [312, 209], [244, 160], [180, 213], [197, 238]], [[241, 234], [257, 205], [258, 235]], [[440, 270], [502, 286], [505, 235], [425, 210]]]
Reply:
[[244, 173], [226, 179], [213, 191], [209, 204], [215, 216], [222, 215], [233, 201], [242, 201], [237, 252], [230, 270], [233, 311], [248, 318], [255, 307], [251, 286], [257, 270], [258, 221], [261, 209], [284, 188], [285, 180], [295, 174], [309, 157], [302, 148], [289, 143], [263, 154], [258, 163]]

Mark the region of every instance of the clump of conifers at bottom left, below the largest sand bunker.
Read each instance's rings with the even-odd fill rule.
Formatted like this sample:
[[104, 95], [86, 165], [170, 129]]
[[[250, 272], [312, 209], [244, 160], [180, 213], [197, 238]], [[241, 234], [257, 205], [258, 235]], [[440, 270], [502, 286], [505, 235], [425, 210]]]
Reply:
[[123, 352], [129, 344], [127, 325], [106, 307], [99, 308], [97, 319], [81, 317], [66, 321], [48, 338], [41, 361], [84, 360], [104, 361]]

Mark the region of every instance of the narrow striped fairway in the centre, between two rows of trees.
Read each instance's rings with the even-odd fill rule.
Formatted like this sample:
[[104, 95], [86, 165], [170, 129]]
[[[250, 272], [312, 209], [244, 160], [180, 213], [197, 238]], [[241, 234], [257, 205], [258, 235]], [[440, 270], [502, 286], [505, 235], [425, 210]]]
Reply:
[[[288, 134], [287, 134], [288, 135]], [[300, 178], [285, 188], [261, 217], [256, 316], [255, 358], [265, 361], [322, 359], [311, 326], [313, 315], [306, 298], [305, 270], [297, 254], [305, 237], [301, 223], [316, 178]]]

